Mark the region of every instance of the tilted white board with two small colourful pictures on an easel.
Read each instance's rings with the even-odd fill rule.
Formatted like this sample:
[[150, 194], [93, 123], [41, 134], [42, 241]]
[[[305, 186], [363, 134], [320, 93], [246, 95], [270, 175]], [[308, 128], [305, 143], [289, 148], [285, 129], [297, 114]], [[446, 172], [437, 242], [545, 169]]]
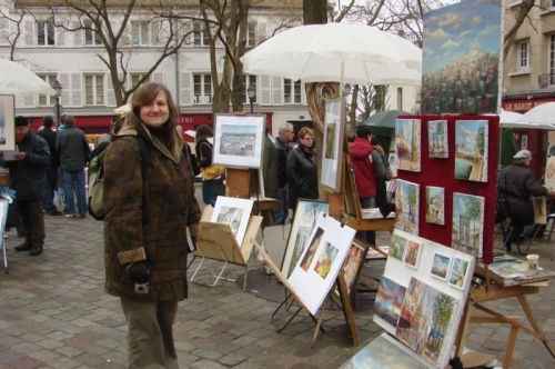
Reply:
[[314, 316], [334, 286], [351, 250], [355, 230], [333, 219], [320, 217], [293, 273], [287, 279], [301, 303]]

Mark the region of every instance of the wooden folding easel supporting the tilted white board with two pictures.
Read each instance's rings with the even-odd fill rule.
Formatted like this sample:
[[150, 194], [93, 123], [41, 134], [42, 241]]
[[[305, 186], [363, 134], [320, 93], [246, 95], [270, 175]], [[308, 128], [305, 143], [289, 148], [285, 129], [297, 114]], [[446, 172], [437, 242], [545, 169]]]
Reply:
[[[314, 333], [312, 336], [312, 341], [311, 341], [311, 347], [314, 347], [314, 343], [317, 339], [319, 331], [323, 331], [322, 322], [324, 319], [324, 312], [325, 312], [327, 302], [330, 301], [330, 299], [332, 297], [333, 288], [332, 288], [332, 290], [330, 290], [330, 292], [327, 293], [327, 297], [324, 299], [324, 302], [322, 303], [322, 306], [320, 308], [320, 315], [316, 319], [316, 317], [314, 317], [312, 313], [310, 313], [309, 309], [302, 303], [302, 300], [296, 295], [296, 291], [293, 288], [293, 286], [291, 286], [291, 283], [287, 281], [287, 279], [281, 273], [280, 268], [278, 268], [278, 266], [272, 261], [272, 259], [270, 259], [270, 257], [263, 250], [263, 248], [256, 242], [254, 243], [254, 247], [258, 249], [258, 251], [260, 252], [260, 255], [264, 259], [268, 267], [273, 271], [273, 273], [278, 277], [278, 279], [285, 287], [285, 299], [278, 306], [278, 308], [272, 313], [272, 318], [271, 318], [272, 325], [274, 326], [274, 328], [278, 332], [281, 332], [282, 330], [284, 330], [289, 326], [289, 323], [291, 323], [291, 321], [299, 315], [299, 312], [301, 312], [301, 310], [305, 309], [306, 312], [309, 313], [309, 316], [311, 317], [311, 319], [316, 323], [316, 328], [314, 329]], [[346, 287], [343, 271], [341, 271], [340, 275], [337, 276], [336, 285], [337, 285], [337, 288], [340, 290], [341, 300], [343, 302], [343, 313], [345, 317], [345, 321], [349, 325], [349, 328], [351, 330], [351, 335], [353, 338], [353, 345], [359, 346], [361, 343], [361, 341], [359, 338], [359, 332], [356, 331], [356, 325], [354, 321], [351, 301], [350, 301], [349, 296], [347, 296], [347, 287]], [[283, 325], [280, 325], [279, 320], [275, 318], [275, 316], [283, 308], [285, 308], [285, 310], [289, 310], [294, 301], [296, 301], [300, 305], [300, 307], [295, 310], [294, 313], [292, 313], [289, 317], [289, 319]]]

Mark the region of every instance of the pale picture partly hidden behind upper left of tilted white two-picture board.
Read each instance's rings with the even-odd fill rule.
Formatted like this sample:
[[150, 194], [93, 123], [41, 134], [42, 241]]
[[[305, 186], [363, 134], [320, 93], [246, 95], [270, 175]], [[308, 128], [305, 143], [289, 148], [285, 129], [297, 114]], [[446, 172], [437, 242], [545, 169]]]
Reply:
[[289, 278], [295, 268], [299, 258], [307, 245], [309, 237], [316, 223], [316, 218], [327, 213], [330, 206], [326, 202], [300, 200], [296, 203], [295, 216], [285, 248], [281, 272]]

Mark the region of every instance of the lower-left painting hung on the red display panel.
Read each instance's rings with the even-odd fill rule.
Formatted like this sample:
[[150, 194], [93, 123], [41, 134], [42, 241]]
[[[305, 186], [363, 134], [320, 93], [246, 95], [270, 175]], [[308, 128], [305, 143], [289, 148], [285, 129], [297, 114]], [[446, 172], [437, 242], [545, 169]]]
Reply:
[[420, 184], [397, 179], [395, 207], [397, 212], [395, 227], [418, 235]]

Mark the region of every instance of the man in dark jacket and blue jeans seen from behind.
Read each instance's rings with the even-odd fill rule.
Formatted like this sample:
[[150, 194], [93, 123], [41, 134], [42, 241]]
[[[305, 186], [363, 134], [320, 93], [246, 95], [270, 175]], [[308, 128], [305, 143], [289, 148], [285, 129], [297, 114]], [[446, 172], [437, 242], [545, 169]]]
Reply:
[[[56, 138], [56, 151], [60, 156], [60, 167], [65, 187], [67, 218], [84, 218], [87, 213], [87, 195], [84, 188], [84, 167], [91, 158], [91, 149], [84, 132], [75, 127], [73, 116], [63, 116], [64, 128]], [[75, 213], [75, 198], [79, 213]]]

